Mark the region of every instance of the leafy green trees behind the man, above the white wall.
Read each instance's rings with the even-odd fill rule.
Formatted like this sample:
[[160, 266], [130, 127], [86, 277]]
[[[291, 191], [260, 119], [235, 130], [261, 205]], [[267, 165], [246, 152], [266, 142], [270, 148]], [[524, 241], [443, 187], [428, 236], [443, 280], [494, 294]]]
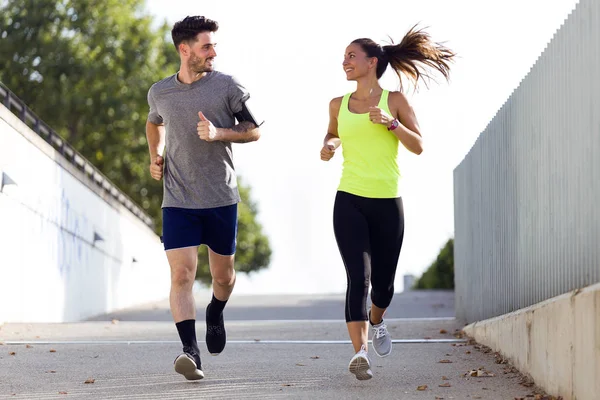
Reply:
[[[143, 0], [0, 0], [0, 81], [140, 204], [160, 233], [162, 183], [148, 173], [144, 134], [147, 92], [178, 70], [179, 59], [170, 27], [153, 23]], [[240, 220], [250, 222], [240, 223], [239, 235], [261, 237], [256, 244], [268, 249], [255, 216], [240, 207]], [[238, 259], [253, 260], [245, 268], [268, 265], [270, 249], [257, 249], [260, 256], [239, 249]]]

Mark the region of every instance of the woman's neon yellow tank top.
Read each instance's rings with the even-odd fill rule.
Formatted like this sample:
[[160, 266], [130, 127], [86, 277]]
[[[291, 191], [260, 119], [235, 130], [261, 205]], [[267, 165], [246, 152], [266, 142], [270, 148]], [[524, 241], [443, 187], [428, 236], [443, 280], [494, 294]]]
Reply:
[[[399, 140], [382, 124], [373, 124], [369, 113], [348, 109], [351, 93], [342, 99], [338, 114], [338, 136], [344, 157], [338, 190], [371, 198], [400, 197]], [[384, 90], [377, 107], [392, 115], [389, 92]]]

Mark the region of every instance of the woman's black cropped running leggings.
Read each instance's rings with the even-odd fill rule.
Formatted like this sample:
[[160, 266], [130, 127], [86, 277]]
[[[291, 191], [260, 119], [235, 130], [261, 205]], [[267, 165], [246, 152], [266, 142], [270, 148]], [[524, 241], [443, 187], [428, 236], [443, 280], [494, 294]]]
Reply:
[[372, 199], [337, 192], [333, 230], [342, 255], [348, 288], [346, 322], [367, 321], [369, 281], [371, 302], [387, 308], [404, 237], [402, 198]]

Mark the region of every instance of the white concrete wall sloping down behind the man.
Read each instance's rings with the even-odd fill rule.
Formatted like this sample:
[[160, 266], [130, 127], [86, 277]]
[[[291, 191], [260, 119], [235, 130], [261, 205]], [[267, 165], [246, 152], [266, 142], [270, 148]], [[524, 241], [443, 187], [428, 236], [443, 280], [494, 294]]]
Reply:
[[78, 321], [168, 297], [159, 238], [0, 106], [0, 323]]

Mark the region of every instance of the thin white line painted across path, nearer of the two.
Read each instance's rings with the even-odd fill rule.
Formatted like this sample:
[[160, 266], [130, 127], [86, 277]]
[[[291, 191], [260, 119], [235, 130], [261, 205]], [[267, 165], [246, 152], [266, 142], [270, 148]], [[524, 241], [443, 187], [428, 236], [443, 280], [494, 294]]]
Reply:
[[[3, 342], [5, 345], [77, 345], [77, 344], [181, 344], [178, 340], [13, 340]], [[205, 343], [198, 341], [198, 343]], [[350, 340], [228, 340], [227, 344], [350, 344]], [[369, 343], [372, 343], [369, 340]], [[398, 344], [425, 343], [466, 343], [464, 339], [393, 339]]]

